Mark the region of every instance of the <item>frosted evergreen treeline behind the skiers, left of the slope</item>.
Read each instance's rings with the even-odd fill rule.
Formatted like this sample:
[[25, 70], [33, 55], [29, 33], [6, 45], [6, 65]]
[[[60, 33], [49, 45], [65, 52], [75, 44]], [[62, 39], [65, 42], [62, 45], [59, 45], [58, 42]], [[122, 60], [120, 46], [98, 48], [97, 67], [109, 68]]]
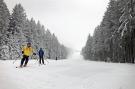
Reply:
[[29, 20], [21, 4], [17, 4], [10, 14], [6, 3], [0, 0], [0, 58], [20, 58], [21, 48], [27, 42], [32, 43], [35, 52], [42, 47], [49, 59], [67, 57], [67, 48], [39, 21]]

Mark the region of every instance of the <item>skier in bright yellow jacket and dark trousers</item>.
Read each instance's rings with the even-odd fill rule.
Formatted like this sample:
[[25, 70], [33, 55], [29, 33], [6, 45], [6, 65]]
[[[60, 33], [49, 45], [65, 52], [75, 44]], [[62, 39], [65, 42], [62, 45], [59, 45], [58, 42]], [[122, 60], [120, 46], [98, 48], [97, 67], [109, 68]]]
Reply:
[[[21, 65], [20, 67], [24, 67], [27, 66], [27, 63], [29, 61], [29, 56], [33, 53], [33, 49], [31, 47], [31, 43], [27, 43], [26, 47], [22, 48], [22, 54], [23, 54], [23, 58], [21, 59]], [[34, 53], [33, 53], [34, 54]], [[25, 62], [25, 63], [24, 63]]]

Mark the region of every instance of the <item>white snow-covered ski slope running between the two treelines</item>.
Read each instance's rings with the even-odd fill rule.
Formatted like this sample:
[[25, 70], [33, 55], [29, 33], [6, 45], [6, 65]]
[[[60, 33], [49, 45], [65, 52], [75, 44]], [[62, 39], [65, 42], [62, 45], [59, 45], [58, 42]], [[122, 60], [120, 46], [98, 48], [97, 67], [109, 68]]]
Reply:
[[0, 89], [135, 89], [135, 65], [84, 61], [79, 54], [68, 60], [0, 61]]

